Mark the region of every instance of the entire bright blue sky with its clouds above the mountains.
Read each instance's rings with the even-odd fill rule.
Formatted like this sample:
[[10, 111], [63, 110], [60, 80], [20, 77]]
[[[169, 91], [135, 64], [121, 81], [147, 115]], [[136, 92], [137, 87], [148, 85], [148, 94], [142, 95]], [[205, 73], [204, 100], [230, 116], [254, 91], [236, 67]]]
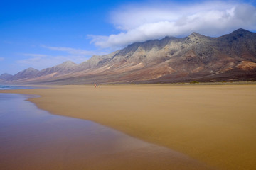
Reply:
[[0, 2], [0, 74], [43, 69], [119, 50], [132, 42], [256, 32], [255, 1]]

